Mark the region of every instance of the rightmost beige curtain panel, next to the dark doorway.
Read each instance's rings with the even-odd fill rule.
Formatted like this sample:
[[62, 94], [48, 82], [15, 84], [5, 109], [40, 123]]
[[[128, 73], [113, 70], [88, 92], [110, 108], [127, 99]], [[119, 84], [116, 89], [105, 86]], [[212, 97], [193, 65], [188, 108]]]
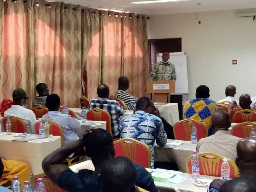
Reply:
[[[87, 36], [82, 44], [88, 52], [82, 59], [86, 74], [83, 88], [86, 91], [87, 86], [88, 97], [97, 97], [96, 88], [102, 83], [107, 84], [114, 95], [120, 76], [127, 76], [131, 81], [129, 93], [138, 98], [145, 96], [148, 80], [145, 16], [107, 11], [84, 11], [82, 15], [90, 20], [90, 24], [82, 26], [82, 34]], [[88, 30], [90, 27], [93, 32]]]

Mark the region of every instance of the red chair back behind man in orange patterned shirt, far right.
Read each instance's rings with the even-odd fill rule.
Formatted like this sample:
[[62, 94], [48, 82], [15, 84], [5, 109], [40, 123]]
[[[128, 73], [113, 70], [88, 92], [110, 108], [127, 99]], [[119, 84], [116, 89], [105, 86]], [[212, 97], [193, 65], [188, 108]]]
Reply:
[[242, 123], [242, 122], [254, 122], [256, 121], [256, 112], [248, 109], [242, 111], [237, 111], [233, 114], [233, 122]]

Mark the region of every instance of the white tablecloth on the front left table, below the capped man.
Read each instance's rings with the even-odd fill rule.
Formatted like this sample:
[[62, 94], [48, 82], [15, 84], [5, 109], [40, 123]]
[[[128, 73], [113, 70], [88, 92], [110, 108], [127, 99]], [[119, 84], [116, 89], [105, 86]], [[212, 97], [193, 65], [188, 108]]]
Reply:
[[12, 141], [19, 138], [14, 137], [14, 135], [16, 134], [6, 135], [6, 132], [0, 133], [0, 155], [9, 160], [27, 163], [34, 175], [44, 173], [42, 169], [44, 157], [61, 147], [61, 137], [59, 136], [23, 142]]

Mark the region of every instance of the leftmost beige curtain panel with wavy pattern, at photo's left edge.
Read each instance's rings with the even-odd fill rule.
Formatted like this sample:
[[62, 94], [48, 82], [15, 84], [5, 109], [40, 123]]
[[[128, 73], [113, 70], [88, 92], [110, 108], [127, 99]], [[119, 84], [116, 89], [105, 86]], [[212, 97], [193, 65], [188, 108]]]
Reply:
[[[34, 54], [31, 1], [0, 0], [0, 100], [23, 88], [34, 95]], [[30, 105], [31, 106], [31, 105]]]

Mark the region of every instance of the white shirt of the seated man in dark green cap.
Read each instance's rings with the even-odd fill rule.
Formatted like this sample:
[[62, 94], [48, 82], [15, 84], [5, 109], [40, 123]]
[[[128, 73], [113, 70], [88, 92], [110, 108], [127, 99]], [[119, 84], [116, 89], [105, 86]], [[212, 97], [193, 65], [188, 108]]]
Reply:
[[7, 115], [23, 119], [26, 123], [26, 132], [29, 134], [35, 134], [36, 118], [35, 113], [32, 110], [26, 109], [20, 105], [12, 105], [11, 108], [4, 112], [4, 116]]

